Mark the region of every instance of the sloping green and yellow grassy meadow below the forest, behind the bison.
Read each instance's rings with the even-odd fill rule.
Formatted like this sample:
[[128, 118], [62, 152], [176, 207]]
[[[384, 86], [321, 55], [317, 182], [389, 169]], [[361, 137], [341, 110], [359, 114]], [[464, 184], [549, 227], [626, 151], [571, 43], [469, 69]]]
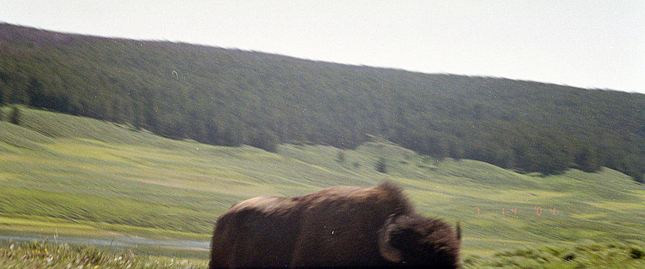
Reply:
[[[610, 169], [519, 174], [472, 160], [435, 160], [377, 142], [354, 150], [279, 145], [277, 153], [269, 153], [170, 140], [127, 125], [24, 107], [14, 125], [6, 120], [9, 111], [3, 108], [0, 121], [0, 235], [208, 241], [213, 221], [236, 201], [390, 180], [404, 187], [422, 214], [461, 223], [467, 268], [614, 268], [608, 257], [633, 268], [645, 264], [638, 254], [643, 246], [634, 243], [645, 241], [645, 187]], [[386, 174], [375, 171], [379, 158], [386, 159]], [[55, 242], [0, 242], [0, 266], [15, 268], [31, 265], [8, 256], [42, 254], [39, 248], [45, 246], [48, 252], [75, 253], [69, 259], [88, 249], [101, 252], [103, 268], [121, 268], [106, 261], [123, 261], [127, 254]], [[136, 247], [127, 251], [148, 253]], [[206, 248], [190, 251], [203, 259], [208, 255]], [[157, 252], [174, 257], [154, 259], [166, 264], [158, 268], [175, 268], [167, 264], [173, 259], [178, 266], [174, 261], [183, 253]], [[45, 263], [50, 256], [37, 257]], [[137, 257], [143, 265], [153, 259]], [[61, 259], [67, 261], [61, 267], [46, 264], [77, 266]], [[200, 268], [204, 262], [182, 265], [177, 268]]]

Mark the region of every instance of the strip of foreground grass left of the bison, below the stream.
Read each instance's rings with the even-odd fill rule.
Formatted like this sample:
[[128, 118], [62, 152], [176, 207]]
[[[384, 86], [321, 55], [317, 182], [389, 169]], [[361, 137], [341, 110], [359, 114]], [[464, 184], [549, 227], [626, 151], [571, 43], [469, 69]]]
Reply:
[[45, 242], [1, 242], [0, 268], [206, 268], [207, 261], [111, 252], [93, 246]]

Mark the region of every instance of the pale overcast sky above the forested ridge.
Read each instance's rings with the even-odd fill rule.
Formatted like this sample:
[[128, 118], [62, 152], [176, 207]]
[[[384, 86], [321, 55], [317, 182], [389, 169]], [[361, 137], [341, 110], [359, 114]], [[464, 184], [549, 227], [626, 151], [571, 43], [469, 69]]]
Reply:
[[645, 93], [645, 1], [7, 1], [0, 21]]

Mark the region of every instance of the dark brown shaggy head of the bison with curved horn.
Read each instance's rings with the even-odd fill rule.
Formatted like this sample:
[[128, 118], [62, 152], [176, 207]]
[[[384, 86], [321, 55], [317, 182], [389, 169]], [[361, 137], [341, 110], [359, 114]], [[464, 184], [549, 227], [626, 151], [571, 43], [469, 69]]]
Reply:
[[402, 266], [457, 268], [461, 230], [453, 232], [439, 219], [390, 216], [379, 234], [379, 251], [392, 263]]

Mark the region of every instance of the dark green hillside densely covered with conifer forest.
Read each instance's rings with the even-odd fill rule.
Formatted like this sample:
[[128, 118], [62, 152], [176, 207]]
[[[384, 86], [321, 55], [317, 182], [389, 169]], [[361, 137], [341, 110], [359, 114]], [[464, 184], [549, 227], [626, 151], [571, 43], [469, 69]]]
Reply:
[[[208, 34], [208, 33], [204, 33]], [[0, 24], [0, 102], [206, 144], [354, 147], [642, 181], [645, 95]]]

